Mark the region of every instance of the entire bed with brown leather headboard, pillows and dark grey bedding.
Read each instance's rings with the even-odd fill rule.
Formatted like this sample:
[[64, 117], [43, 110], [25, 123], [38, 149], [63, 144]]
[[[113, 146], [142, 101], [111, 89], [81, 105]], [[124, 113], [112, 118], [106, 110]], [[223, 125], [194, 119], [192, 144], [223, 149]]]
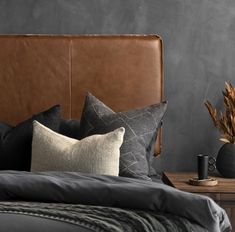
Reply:
[[0, 36], [1, 231], [231, 231], [210, 198], [151, 179], [162, 50], [156, 35]]

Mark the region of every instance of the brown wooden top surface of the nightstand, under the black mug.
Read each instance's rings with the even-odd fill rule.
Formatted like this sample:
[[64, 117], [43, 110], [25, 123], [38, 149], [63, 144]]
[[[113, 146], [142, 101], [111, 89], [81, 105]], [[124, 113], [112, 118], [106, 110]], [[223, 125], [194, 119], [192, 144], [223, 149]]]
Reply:
[[218, 180], [218, 185], [213, 187], [193, 186], [188, 184], [189, 178], [197, 177], [195, 172], [164, 172], [163, 182], [177, 189], [192, 193], [235, 193], [235, 179], [214, 177]]

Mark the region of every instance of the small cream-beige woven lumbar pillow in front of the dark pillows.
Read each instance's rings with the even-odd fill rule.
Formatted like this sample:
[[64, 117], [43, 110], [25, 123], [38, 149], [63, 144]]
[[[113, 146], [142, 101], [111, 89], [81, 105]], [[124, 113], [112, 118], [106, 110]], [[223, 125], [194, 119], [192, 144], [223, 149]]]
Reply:
[[104, 135], [77, 140], [34, 121], [31, 171], [78, 171], [118, 176], [124, 133], [125, 129], [120, 127]]

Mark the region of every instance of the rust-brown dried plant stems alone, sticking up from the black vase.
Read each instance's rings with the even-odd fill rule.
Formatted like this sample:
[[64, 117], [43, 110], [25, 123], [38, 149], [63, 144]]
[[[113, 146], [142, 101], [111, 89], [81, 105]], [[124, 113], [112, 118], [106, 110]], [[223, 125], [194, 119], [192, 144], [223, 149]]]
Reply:
[[209, 101], [205, 105], [210, 113], [212, 121], [221, 133], [220, 140], [225, 143], [235, 144], [235, 87], [231, 83], [225, 82], [224, 112], [217, 112]]

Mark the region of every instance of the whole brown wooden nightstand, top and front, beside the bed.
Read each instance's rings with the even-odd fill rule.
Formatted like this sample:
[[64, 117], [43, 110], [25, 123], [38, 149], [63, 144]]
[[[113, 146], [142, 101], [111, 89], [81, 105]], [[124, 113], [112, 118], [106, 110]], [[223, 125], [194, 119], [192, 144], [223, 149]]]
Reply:
[[[214, 187], [193, 186], [188, 184], [191, 177], [197, 177], [193, 172], [164, 172], [162, 180], [177, 189], [209, 196], [224, 208], [235, 228], [235, 179], [215, 177], [219, 181]], [[214, 177], [214, 176], [213, 176]]]

